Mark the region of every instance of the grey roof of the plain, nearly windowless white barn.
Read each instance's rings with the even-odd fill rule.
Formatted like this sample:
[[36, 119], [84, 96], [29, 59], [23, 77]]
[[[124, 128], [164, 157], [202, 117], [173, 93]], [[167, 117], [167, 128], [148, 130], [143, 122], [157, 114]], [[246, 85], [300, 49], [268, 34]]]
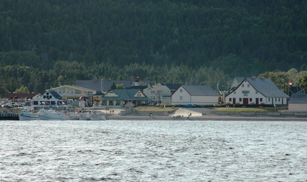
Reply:
[[190, 95], [218, 96], [208, 85], [181, 85]]

